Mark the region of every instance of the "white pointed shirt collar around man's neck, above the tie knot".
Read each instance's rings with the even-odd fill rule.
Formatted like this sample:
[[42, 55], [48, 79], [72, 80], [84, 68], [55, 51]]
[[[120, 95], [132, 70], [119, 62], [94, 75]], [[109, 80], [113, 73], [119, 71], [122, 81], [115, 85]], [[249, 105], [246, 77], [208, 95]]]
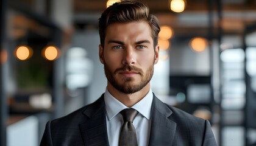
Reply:
[[[115, 97], [113, 97], [108, 90], [105, 90], [104, 94], [105, 108], [107, 111], [108, 120], [112, 120], [123, 109], [129, 108], [123, 103], [119, 102]], [[131, 108], [136, 109], [140, 114], [142, 114], [146, 119], [151, 118], [151, 106], [153, 101], [153, 93], [150, 89], [148, 94], [146, 94], [143, 99], [133, 105]]]

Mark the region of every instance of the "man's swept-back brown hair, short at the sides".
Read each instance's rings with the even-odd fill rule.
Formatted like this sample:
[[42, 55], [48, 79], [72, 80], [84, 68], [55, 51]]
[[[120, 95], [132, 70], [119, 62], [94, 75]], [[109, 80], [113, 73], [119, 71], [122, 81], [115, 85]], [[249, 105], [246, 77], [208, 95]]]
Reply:
[[151, 36], [154, 47], [157, 45], [160, 24], [156, 16], [149, 13], [146, 4], [135, 1], [121, 1], [108, 7], [99, 18], [99, 37], [101, 46], [104, 47], [105, 30], [112, 23], [129, 23], [133, 21], [145, 21], [151, 27]]

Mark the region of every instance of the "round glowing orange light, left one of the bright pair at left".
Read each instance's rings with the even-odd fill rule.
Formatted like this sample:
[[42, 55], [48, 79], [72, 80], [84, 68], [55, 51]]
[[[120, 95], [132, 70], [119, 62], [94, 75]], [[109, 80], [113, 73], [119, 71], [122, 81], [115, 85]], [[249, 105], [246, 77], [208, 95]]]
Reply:
[[32, 56], [32, 54], [32, 49], [28, 46], [19, 46], [15, 52], [15, 55], [19, 60], [27, 60]]

